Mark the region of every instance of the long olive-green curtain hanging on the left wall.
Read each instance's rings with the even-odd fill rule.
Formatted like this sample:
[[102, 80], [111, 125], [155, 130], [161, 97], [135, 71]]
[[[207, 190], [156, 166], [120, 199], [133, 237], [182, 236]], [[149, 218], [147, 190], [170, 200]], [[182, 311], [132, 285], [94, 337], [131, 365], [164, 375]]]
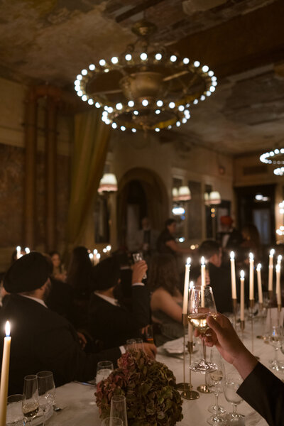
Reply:
[[97, 109], [75, 115], [67, 251], [79, 244], [94, 244], [92, 210], [104, 171], [109, 136], [109, 126], [102, 122]]

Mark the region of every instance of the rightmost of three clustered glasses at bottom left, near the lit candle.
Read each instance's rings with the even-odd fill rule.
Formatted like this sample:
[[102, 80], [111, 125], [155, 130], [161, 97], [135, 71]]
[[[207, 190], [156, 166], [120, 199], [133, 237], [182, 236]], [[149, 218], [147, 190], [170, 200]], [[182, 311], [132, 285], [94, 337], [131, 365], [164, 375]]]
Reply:
[[55, 384], [52, 371], [39, 371], [38, 376], [38, 395], [40, 408], [46, 415], [50, 408], [55, 404]]

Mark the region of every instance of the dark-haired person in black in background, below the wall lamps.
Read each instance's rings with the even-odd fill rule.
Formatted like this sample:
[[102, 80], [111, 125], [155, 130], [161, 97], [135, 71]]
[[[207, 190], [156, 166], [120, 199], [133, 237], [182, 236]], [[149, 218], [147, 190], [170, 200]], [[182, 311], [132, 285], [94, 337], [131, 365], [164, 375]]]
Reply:
[[185, 249], [180, 247], [175, 242], [175, 231], [177, 229], [177, 222], [175, 219], [167, 219], [165, 221], [165, 227], [158, 236], [157, 240], [157, 251], [158, 253], [168, 253], [175, 256], [177, 253], [189, 254], [192, 253], [191, 249]]

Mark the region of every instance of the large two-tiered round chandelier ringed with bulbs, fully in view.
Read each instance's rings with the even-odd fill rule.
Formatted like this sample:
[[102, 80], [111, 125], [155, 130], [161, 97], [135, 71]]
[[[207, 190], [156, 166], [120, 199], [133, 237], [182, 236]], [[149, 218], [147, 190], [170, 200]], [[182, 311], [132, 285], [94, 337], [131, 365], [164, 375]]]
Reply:
[[217, 77], [198, 60], [151, 44], [155, 24], [139, 21], [132, 31], [138, 38], [123, 53], [90, 64], [77, 75], [77, 95], [103, 108], [102, 120], [113, 129], [135, 133], [185, 124], [191, 105], [215, 91]]

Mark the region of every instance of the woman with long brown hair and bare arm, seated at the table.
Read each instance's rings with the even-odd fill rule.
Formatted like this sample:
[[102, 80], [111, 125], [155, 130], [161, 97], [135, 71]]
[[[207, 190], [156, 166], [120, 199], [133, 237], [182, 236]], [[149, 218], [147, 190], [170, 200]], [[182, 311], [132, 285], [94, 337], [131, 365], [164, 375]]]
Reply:
[[[160, 329], [155, 334], [157, 346], [183, 335], [182, 294], [175, 258], [170, 254], [153, 256], [148, 276], [151, 294], [152, 321]], [[155, 328], [155, 327], [154, 327]]]

